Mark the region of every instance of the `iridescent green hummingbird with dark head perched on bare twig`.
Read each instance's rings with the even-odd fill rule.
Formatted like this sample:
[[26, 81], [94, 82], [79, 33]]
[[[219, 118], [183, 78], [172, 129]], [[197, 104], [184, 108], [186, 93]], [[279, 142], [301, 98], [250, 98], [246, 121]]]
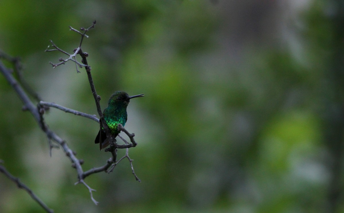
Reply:
[[[144, 94], [129, 96], [128, 93], [117, 91], [111, 95], [108, 101], [108, 107], [103, 111], [104, 120], [109, 127], [114, 138], [117, 137], [120, 131], [117, 130], [118, 124], [125, 125], [127, 122], [127, 106], [131, 98], [143, 97]], [[95, 143], [99, 143], [100, 150], [108, 146], [109, 140], [106, 140], [106, 133], [100, 122], [100, 130], [96, 137]]]

